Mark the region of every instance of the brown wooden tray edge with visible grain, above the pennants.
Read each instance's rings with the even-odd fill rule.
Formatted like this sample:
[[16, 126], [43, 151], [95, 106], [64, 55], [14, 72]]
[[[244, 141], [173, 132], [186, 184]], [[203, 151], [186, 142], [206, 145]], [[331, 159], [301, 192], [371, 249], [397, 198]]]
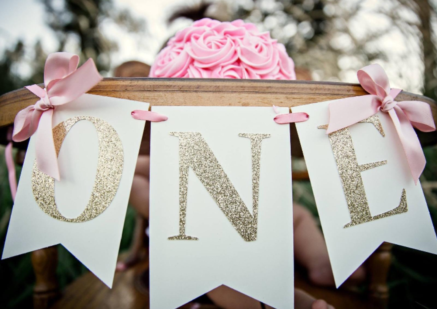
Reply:
[[[358, 84], [339, 82], [204, 78], [104, 78], [88, 93], [149, 102], [152, 106], [277, 105], [291, 108], [367, 94]], [[430, 98], [401, 92], [396, 99], [428, 102], [437, 119], [437, 105]], [[17, 112], [37, 100], [24, 88], [0, 96], [0, 127], [11, 125]]]

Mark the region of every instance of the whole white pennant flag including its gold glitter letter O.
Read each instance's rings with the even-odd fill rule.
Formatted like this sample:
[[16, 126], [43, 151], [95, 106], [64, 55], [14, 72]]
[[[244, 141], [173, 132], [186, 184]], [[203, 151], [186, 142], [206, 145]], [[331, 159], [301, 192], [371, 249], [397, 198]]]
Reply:
[[[149, 104], [84, 94], [53, 113], [61, 181], [35, 165], [35, 135], [21, 170], [2, 258], [62, 244], [112, 286]], [[62, 145], [62, 146], [61, 146]]]

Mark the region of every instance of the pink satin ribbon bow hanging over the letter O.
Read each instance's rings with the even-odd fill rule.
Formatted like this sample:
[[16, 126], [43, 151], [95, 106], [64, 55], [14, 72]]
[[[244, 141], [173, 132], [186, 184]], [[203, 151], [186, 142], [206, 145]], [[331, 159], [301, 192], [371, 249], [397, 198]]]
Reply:
[[80, 68], [78, 64], [79, 56], [75, 54], [49, 54], [44, 67], [45, 88], [25, 87], [37, 95], [39, 101], [18, 112], [14, 121], [12, 139], [15, 142], [28, 139], [38, 128], [35, 143], [38, 169], [56, 180], [60, 177], [52, 133], [53, 110], [80, 97], [103, 79], [93, 59], [88, 59]]

